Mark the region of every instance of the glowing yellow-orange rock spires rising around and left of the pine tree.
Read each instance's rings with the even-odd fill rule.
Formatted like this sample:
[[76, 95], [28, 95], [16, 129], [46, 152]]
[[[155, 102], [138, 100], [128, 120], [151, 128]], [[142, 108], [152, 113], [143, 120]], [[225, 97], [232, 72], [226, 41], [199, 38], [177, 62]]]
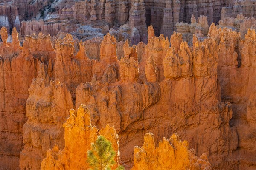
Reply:
[[[104, 136], [112, 143], [116, 152], [115, 160], [119, 164], [119, 136], [114, 127], [107, 125], [99, 130], [91, 125], [90, 113], [86, 106], [80, 105], [77, 112], [70, 110], [70, 117], [63, 124], [65, 128], [65, 147], [58, 145], [49, 149], [41, 163], [41, 170], [88, 169], [87, 151], [98, 135]], [[116, 166], [112, 167], [114, 169]]]

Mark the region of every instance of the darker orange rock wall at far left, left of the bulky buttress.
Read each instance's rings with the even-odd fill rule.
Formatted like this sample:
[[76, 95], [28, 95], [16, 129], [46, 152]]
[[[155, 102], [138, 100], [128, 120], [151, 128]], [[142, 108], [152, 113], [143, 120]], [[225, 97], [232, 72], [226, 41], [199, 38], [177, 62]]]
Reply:
[[[4, 28], [1, 30], [5, 30], [1, 31], [1, 35], [2, 40], [6, 41], [7, 31]], [[27, 121], [28, 88], [32, 79], [41, 75], [41, 71], [38, 70], [40, 60], [44, 58], [41, 55], [38, 58], [34, 57], [33, 52], [25, 53], [23, 47], [19, 46], [17, 35], [13, 29], [12, 43], [0, 45], [0, 136], [4, 139], [1, 140], [1, 169], [19, 169], [20, 151], [23, 148], [22, 127]], [[39, 42], [35, 42], [36, 44]], [[48, 53], [49, 51], [38, 51], [38, 54]]]

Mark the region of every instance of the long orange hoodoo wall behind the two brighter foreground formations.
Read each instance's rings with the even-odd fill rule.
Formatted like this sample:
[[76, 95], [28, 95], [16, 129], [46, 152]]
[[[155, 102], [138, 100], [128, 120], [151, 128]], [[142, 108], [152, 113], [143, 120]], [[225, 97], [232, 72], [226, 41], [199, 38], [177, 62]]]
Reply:
[[[124, 57], [117, 56], [118, 43], [110, 34], [104, 37], [100, 50], [99, 45], [87, 47], [90, 41], [86, 45], [78, 43], [70, 34], [54, 40], [55, 49], [50, 36], [41, 33], [27, 36], [23, 47], [14, 50], [12, 46], [19, 46], [17, 33], [13, 34], [15, 41], [0, 45], [0, 99], [5, 106], [1, 109], [1, 122], [5, 123], [1, 124], [0, 134], [9, 142], [1, 148], [1, 162], [4, 162], [1, 166], [3, 169], [18, 168], [19, 152], [23, 147], [21, 129], [27, 119], [23, 134], [47, 135], [52, 131], [44, 129], [53, 125], [60, 130], [61, 121], [67, 118], [64, 113], [66, 116], [68, 113], [64, 111], [61, 112], [61, 123], [55, 124], [57, 117], [51, 119], [53, 122], [44, 122], [48, 119], [41, 117], [52, 113], [45, 110], [53, 108], [51, 103], [58, 106], [64, 102], [56, 103], [52, 97], [55, 92], [41, 93], [51, 87], [47, 83], [37, 86], [34, 103], [27, 102], [28, 88], [32, 79], [37, 77], [38, 83], [39, 78], [46, 82], [53, 79], [55, 84], [60, 79], [60, 84], [66, 86], [64, 94], [70, 93], [66, 102], [71, 100], [71, 108], [74, 102], [76, 109], [81, 104], [87, 105], [91, 121], [97, 127], [114, 125], [120, 137], [120, 162], [127, 168], [133, 166], [133, 147], [143, 145], [143, 136], [148, 131], [155, 134], [156, 142], [164, 136], [178, 133], [198, 155], [209, 155], [213, 169], [255, 167], [255, 31], [249, 29], [243, 39], [235, 31], [212, 24], [208, 34], [205, 40], [193, 36], [189, 46], [183, 42], [182, 34], [175, 33], [170, 38], [170, 46], [163, 35], [154, 37], [154, 30], [150, 27], [148, 44], [140, 42], [136, 48], [123, 44], [123, 53], [118, 55], [124, 54]], [[1, 37], [7, 39], [6, 30], [1, 31]], [[99, 60], [87, 57], [87, 48]], [[22, 76], [13, 75], [19, 70], [23, 71]], [[31, 115], [29, 117], [25, 116], [26, 102], [35, 107], [33, 113], [26, 111]], [[43, 105], [39, 104], [41, 102]], [[6, 109], [9, 103], [15, 105], [14, 110]], [[65, 108], [67, 106], [62, 109], [69, 110]], [[30, 133], [35, 132], [30, 130], [32, 126], [28, 126], [31, 121], [36, 127], [43, 127], [38, 127], [37, 133]], [[61, 136], [58, 130], [56, 136]], [[34, 137], [41, 139], [40, 136]], [[12, 139], [16, 141], [12, 142]], [[56, 141], [59, 139], [61, 137]], [[32, 164], [32, 160], [42, 160], [54, 144], [49, 146], [49, 142], [46, 144], [44, 140], [39, 140], [39, 143], [30, 142], [27, 138], [23, 140], [26, 145], [20, 166], [40, 167], [38, 163]], [[34, 147], [28, 147], [30, 145]], [[61, 146], [64, 147], [64, 140]], [[15, 161], [10, 165], [12, 159]]]

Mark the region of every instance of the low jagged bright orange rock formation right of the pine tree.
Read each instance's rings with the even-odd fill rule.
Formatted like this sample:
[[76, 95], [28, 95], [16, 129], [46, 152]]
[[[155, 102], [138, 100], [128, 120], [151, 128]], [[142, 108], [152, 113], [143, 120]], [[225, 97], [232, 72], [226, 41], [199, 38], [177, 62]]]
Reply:
[[180, 141], [174, 133], [170, 139], [163, 138], [156, 148], [154, 135], [146, 133], [142, 148], [134, 147], [134, 166], [131, 170], [212, 170], [207, 155], [195, 156], [195, 150], [188, 150], [189, 143]]

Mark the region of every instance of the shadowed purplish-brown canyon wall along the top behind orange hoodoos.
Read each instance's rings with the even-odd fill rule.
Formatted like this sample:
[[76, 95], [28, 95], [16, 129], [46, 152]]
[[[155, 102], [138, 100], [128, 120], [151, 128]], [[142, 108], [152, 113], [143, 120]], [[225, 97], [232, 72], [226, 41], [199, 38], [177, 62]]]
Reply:
[[207, 16], [209, 25], [240, 13], [256, 17], [253, 0], [1, 0], [0, 4], [0, 27], [5, 26], [8, 34], [16, 27], [22, 41], [40, 31], [51, 36], [79, 29], [86, 33], [90, 29], [83, 26], [90, 25], [107, 33], [111, 28], [123, 31], [128, 24], [128, 34], [146, 42], [147, 26], [153, 25], [157, 36], [170, 37], [176, 23], [189, 23], [192, 15]]

